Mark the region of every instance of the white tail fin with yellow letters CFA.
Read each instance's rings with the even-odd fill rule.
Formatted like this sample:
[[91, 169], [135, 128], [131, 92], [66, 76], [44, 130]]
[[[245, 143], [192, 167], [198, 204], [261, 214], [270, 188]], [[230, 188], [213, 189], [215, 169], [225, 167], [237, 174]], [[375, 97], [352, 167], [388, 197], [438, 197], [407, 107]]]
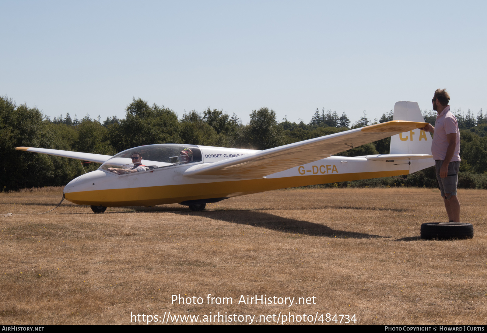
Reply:
[[[393, 120], [408, 120], [424, 122], [423, 115], [417, 102], [400, 101], [394, 105]], [[428, 154], [431, 155], [430, 132], [414, 129], [391, 136], [391, 154]], [[433, 159], [411, 161], [410, 173], [421, 170], [425, 167], [433, 166]]]

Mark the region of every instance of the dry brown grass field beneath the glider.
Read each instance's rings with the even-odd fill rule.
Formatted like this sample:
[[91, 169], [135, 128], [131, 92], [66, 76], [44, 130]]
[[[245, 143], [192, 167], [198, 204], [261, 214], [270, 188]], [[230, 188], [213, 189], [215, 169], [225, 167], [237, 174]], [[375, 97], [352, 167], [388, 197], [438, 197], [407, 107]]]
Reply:
[[[357, 324], [486, 320], [486, 190], [459, 190], [475, 234], [449, 241], [419, 237], [421, 223], [448, 220], [433, 189], [278, 190], [203, 212], [173, 204], [94, 214], [63, 202], [18, 215], [47, 211], [61, 195], [0, 194], [2, 324], [130, 324], [131, 312], [169, 311], [198, 322], [210, 312], [255, 314], [254, 323], [280, 312], [318, 312], [317, 324], [327, 313], [355, 314]], [[171, 304], [174, 294], [204, 303]], [[208, 305], [208, 294], [233, 304]], [[256, 294], [316, 304], [238, 304]]]

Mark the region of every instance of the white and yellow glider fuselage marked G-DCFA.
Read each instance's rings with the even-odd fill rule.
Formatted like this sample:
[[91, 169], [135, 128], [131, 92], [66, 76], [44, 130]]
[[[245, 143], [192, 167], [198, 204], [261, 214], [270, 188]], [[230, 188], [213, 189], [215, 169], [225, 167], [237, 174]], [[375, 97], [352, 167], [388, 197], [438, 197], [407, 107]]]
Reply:
[[[256, 150], [198, 146], [201, 162], [169, 165], [117, 175], [103, 169], [81, 175], [64, 188], [66, 200], [97, 206], [154, 206], [192, 200], [236, 197], [279, 188], [337, 183], [408, 174], [410, 163], [331, 156], [254, 179], [197, 179], [184, 173], [196, 164], [213, 163]], [[107, 161], [105, 164], [109, 163]], [[416, 161], [412, 161], [416, 162]], [[144, 161], [143, 161], [144, 163]], [[145, 162], [144, 164], [149, 164]]]

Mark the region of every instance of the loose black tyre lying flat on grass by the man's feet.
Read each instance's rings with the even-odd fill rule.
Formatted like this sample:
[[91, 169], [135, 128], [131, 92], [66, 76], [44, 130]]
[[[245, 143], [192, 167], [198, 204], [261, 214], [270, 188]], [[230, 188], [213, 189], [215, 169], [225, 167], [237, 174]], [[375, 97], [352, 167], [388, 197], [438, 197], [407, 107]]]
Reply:
[[473, 225], [471, 223], [423, 223], [421, 224], [421, 238], [423, 240], [462, 240], [473, 238]]

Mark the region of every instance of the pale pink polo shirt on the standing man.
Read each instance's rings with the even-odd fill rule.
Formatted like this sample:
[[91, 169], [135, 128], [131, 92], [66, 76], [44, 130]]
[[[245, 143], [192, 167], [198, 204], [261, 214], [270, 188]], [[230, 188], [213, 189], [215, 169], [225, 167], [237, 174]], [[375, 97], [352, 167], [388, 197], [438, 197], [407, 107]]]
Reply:
[[447, 134], [456, 133], [456, 147], [450, 162], [460, 161], [460, 130], [453, 113], [450, 112], [450, 105], [436, 116], [434, 124], [433, 142], [431, 143], [431, 154], [434, 160], [445, 160], [448, 141]]

